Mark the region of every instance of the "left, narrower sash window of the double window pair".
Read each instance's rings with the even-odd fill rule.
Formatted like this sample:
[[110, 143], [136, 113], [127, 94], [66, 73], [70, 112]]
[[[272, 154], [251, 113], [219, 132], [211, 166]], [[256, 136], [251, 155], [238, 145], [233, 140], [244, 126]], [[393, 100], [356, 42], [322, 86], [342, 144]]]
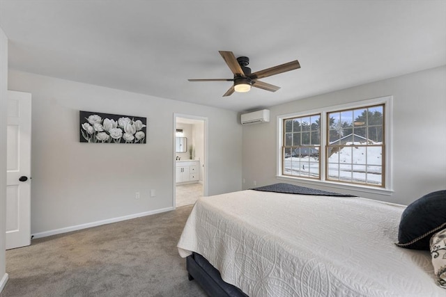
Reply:
[[321, 114], [284, 119], [283, 175], [321, 177]]

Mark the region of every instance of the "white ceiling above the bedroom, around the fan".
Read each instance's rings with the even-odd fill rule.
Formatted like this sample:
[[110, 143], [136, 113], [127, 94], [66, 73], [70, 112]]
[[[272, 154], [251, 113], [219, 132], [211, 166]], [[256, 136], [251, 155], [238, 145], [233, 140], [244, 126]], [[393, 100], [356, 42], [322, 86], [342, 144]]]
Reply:
[[[446, 1], [0, 1], [15, 70], [246, 111], [446, 65]], [[222, 97], [218, 53], [282, 87]]]

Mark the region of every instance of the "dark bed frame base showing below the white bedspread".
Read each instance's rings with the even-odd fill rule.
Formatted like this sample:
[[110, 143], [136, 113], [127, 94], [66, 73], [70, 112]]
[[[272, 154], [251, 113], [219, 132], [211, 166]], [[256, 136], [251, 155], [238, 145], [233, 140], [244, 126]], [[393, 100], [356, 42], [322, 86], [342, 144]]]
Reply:
[[222, 280], [220, 272], [203, 256], [193, 252], [186, 258], [189, 280], [198, 282], [209, 296], [213, 297], [247, 297], [238, 287]]

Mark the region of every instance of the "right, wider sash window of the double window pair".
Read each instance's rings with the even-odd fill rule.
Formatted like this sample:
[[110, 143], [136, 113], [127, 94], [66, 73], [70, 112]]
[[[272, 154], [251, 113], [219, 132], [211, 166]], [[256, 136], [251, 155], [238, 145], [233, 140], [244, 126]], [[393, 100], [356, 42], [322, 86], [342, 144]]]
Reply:
[[383, 104], [327, 113], [327, 180], [384, 186], [383, 114]]

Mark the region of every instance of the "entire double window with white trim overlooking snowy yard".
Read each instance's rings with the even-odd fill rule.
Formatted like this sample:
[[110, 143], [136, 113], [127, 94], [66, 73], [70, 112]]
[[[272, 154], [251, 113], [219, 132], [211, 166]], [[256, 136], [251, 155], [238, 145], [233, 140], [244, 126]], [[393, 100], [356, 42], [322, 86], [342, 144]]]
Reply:
[[391, 98], [279, 116], [278, 176], [389, 189]]

